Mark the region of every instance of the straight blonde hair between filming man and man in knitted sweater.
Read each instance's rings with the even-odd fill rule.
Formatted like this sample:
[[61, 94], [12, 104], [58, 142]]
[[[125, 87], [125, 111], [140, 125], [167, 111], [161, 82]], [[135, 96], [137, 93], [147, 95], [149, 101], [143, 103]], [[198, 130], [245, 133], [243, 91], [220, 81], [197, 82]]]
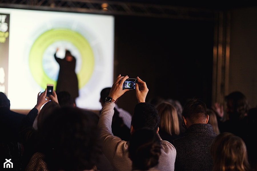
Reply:
[[176, 108], [168, 102], [162, 102], [156, 109], [160, 115], [160, 129], [170, 135], [179, 135], [180, 130]]

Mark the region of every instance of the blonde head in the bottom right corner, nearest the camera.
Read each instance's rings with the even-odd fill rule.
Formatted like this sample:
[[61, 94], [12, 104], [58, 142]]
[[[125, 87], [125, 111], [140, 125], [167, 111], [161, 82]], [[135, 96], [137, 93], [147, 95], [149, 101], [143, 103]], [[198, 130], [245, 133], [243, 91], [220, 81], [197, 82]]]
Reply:
[[232, 133], [224, 132], [215, 137], [210, 154], [214, 163], [213, 171], [250, 170], [246, 145]]

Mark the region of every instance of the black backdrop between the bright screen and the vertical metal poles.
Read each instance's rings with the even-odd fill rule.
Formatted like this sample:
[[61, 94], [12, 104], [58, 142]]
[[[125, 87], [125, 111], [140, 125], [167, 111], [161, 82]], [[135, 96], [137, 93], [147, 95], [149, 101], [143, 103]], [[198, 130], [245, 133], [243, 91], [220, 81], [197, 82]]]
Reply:
[[[139, 76], [154, 97], [201, 98], [211, 105], [214, 21], [115, 17], [114, 78]], [[132, 113], [130, 90], [117, 104]]]

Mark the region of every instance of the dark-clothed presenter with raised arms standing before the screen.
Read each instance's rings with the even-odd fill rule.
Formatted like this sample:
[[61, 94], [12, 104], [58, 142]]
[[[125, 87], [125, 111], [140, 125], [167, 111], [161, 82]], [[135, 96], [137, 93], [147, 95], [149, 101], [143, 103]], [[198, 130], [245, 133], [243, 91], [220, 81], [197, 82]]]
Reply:
[[69, 50], [66, 49], [65, 57], [63, 59], [57, 58], [55, 52], [55, 60], [60, 66], [59, 75], [56, 85], [56, 93], [59, 91], [68, 91], [71, 97], [75, 99], [79, 96], [79, 84], [77, 74], [75, 73], [76, 58], [71, 54]]

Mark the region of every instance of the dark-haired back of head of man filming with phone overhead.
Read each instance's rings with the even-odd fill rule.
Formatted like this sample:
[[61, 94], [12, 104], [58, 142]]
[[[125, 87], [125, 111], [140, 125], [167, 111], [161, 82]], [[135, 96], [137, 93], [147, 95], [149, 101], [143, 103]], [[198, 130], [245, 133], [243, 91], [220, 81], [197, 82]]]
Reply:
[[134, 130], [157, 130], [160, 123], [160, 115], [154, 105], [150, 103], [138, 103], [134, 108], [131, 125]]

